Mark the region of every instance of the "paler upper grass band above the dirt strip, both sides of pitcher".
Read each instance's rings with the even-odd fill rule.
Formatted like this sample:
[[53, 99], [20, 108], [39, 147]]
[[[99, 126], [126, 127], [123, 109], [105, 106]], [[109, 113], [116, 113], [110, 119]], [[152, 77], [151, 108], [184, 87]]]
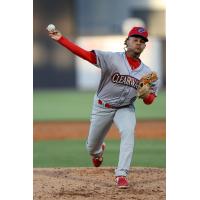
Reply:
[[[34, 120], [89, 120], [93, 92], [74, 90], [37, 90], [33, 93]], [[152, 105], [135, 103], [138, 119], [165, 119], [165, 91], [160, 91]]]

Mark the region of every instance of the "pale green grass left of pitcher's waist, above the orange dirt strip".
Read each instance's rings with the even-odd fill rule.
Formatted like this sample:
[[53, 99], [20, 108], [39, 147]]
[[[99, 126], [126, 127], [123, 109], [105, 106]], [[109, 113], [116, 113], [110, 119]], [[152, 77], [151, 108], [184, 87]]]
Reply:
[[34, 120], [89, 119], [94, 92], [47, 90], [33, 93]]

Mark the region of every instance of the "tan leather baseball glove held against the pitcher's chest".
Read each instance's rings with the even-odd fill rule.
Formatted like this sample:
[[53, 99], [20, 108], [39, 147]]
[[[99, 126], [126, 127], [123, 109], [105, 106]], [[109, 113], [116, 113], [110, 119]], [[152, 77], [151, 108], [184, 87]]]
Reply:
[[137, 97], [144, 99], [148, 94], [150, 94], [152, 92], [151, 86], [153, 86], [153, 82], [157, 80], [158, 76], [156, 72], [144, 75], [139, 81]]

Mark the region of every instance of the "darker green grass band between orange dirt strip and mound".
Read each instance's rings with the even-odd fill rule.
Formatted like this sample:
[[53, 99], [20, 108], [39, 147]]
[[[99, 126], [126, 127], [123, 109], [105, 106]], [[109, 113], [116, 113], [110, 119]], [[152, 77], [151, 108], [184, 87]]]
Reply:
[[[107, 140], [103, 166], [117, 166], [118, 140]], [[33, 146], [34, 167], [91, 167], [84, 140], [38, 141]], [[165, 168], [165, 140], [136, 140], [132, 166]]]

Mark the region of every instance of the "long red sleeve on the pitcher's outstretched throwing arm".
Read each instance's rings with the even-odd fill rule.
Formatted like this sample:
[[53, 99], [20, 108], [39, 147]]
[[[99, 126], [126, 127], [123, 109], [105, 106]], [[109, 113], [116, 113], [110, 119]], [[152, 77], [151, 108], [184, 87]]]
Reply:
[[88, 62], [92, 64], [96, 64], [96, 54], [92, 51], [86, 51], [85, 49], [82, 49], [81, 47], [77, 46], [70, 40], [68, 40], [65, 37], [61, 37], [58, 40], [58, 43], [64, 46], [65, 48], [69, 49], [72, 53], [76, 54], [77, 56], [87, 60]]

